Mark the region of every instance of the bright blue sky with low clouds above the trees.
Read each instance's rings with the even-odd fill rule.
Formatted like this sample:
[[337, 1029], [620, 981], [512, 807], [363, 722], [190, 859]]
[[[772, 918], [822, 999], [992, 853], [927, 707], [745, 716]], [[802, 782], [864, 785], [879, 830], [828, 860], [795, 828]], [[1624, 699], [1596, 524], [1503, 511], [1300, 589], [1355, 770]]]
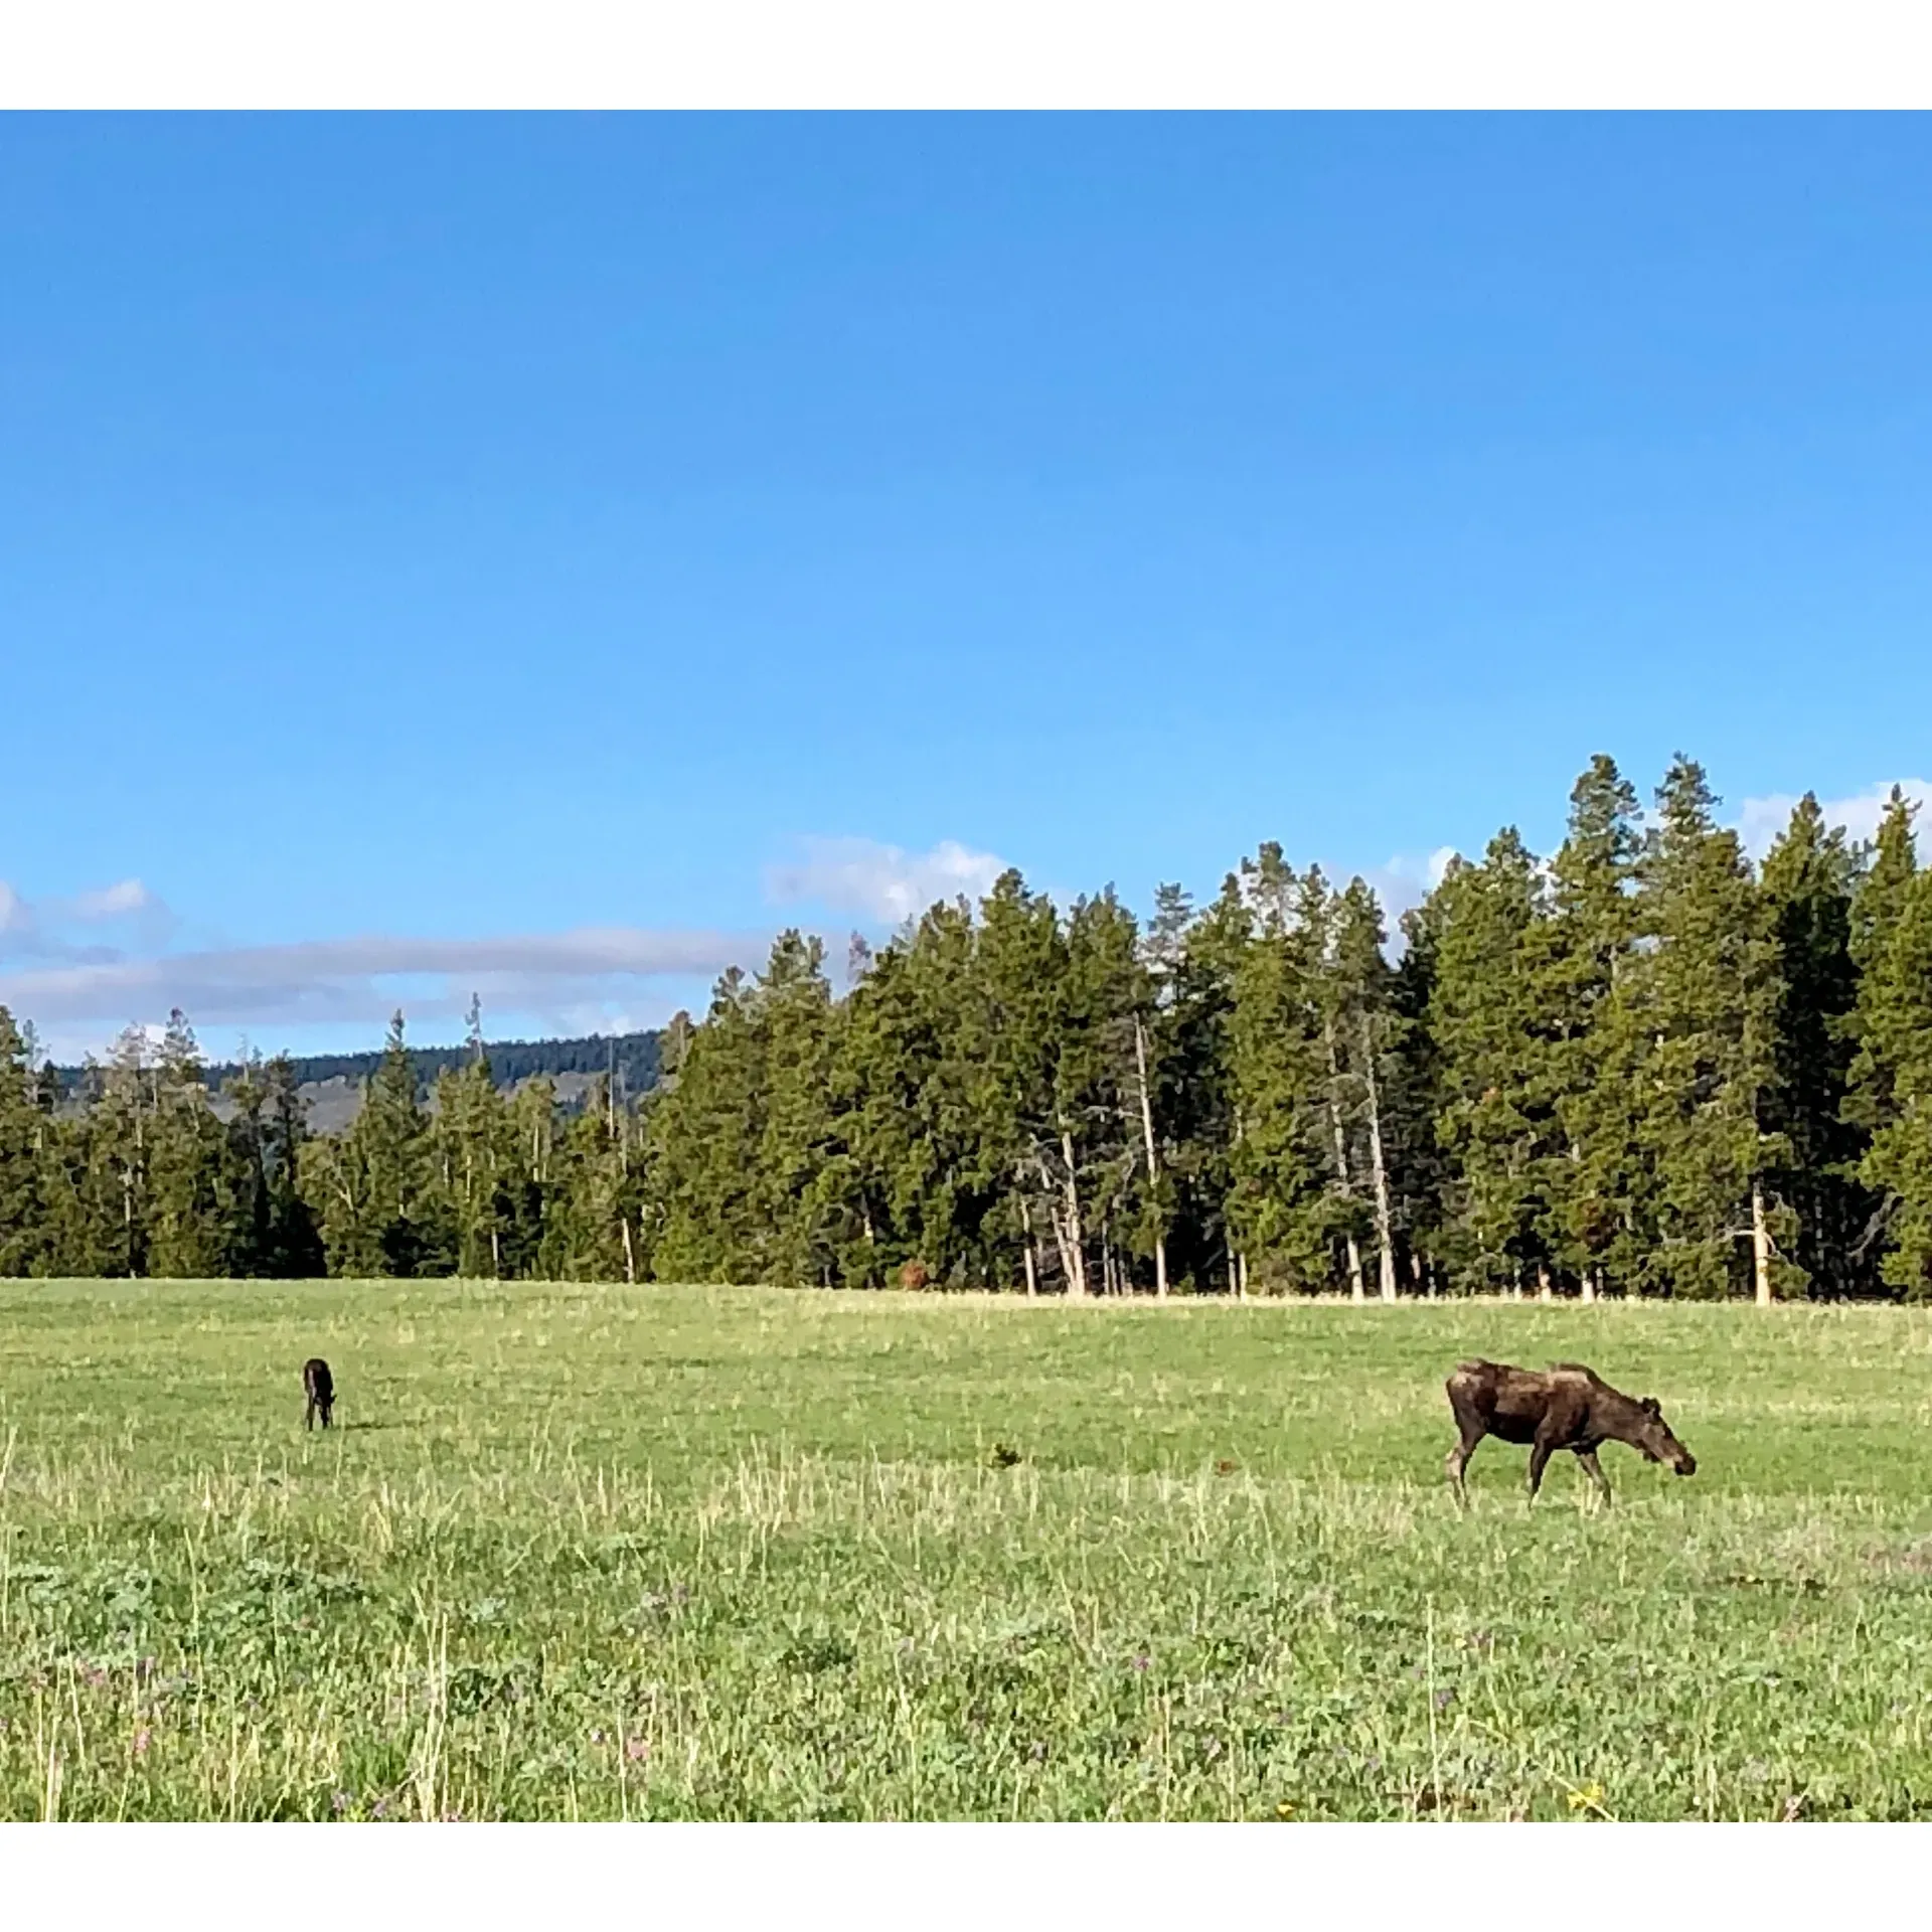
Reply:
[[[0, 1001], [651, 1024], [1932, 769], [1917, 116], [0, 120]], [[1752, 804], [1752, 802], [1758, 804]]]

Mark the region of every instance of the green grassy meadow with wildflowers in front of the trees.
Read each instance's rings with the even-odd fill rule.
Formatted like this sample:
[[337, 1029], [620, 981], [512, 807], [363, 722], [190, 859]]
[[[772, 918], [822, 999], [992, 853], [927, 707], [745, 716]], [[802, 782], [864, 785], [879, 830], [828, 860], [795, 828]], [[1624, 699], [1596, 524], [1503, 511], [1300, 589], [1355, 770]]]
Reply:
[[[1478, 1352], [1698, 1474], [1459, 1519]], [[0, 1285], [0, 1814], [1932, 1816], [1928, 1422], [1876, 1308]]]

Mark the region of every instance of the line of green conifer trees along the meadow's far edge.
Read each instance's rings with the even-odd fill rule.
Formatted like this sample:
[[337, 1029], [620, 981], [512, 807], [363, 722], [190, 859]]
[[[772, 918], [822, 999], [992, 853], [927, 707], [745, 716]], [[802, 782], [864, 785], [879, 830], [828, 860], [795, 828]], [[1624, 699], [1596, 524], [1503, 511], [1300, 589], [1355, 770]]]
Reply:
[[1196, 906], [1009, 871], [835, 995], [788, 931], [574, 1117], [402, 1018], [340, 1134], [288, 1059], [216, 1119], [187, 1022], [89, 1063], [0, 1009], [0, 1273], [728, 1279], [1018, 1293], [1932, 1298], [1932, 873], [1895, 790], [1762, 866], [1607, 757], [1401, 922], [1264, 844]]

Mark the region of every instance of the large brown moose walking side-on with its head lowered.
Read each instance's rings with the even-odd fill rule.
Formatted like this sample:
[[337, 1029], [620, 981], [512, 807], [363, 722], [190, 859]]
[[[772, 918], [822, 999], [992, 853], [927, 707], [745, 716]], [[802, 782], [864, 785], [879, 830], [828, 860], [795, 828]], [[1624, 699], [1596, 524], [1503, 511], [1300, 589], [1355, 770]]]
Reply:
[[1503, 1362], [1459, 1362], [1447, 1389], [1463, 1437], [1449, 1451], [1447, 1470], [1464, 1507], [1468, 1490], [1463, 1470], [1484, 1435], [1530, 1445], [1530, 1501], [1542, 1488], [1544, 1464], [1557, 1449], [1577, 1457], [1605, 1503], [1609, 1484], [1596, 1463], [1602, 1443], [1629, 1443], [1652, 1463], [1667, 1463], [1679, 1476], [1696, 1474], [1696, 1457], [1671, 1434], [1654, 1395], [1621, 1395], [1580, 1362], [1555, 1362], [1548, 1372]]

